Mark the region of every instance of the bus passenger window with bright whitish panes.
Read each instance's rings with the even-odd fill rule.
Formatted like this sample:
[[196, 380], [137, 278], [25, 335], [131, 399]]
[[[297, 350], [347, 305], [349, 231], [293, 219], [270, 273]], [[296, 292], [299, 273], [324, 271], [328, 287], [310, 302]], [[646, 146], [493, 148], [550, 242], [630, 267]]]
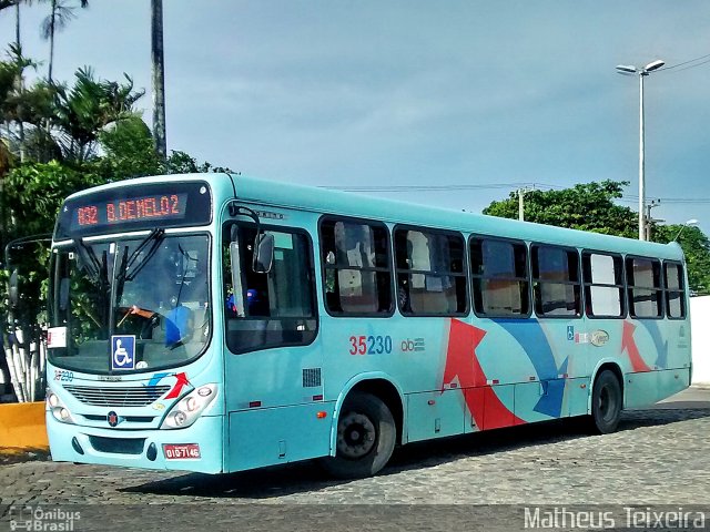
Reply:
[[623, 264], [618, 255], [585, 252], [581, 256], [587, 316], [622, 318]]

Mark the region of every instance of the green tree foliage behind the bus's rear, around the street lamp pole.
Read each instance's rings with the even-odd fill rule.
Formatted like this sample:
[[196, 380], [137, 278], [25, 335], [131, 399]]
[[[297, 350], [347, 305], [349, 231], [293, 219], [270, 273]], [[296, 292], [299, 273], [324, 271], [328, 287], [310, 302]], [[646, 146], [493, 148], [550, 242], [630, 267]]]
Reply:
[[[538, 224], [590, 231], [636, 238], [638, 214], [613, 203], [621, 197], [628, 182], [582, 183], [570, 188], [525, 193], [525, 219]], [[504, 218], [518, 217], [518, 194], [484, 208], [484, 214]], [[682, 232], [681, 232], [682, 229]], [[677, 235], [680, 235], [678, 238]], [[698, 227], [651, 225], [651, 239], [667, 244], [677, 239], [686, 254], [688, 284], [696, 294], [710, 293], [710, 242]]]

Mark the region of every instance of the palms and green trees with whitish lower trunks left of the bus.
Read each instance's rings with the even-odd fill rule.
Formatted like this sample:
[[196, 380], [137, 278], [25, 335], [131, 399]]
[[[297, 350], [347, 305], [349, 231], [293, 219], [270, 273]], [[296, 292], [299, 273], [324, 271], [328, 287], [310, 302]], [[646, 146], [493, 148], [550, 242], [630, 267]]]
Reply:
[[[145, 90], [134, 86], [130, 74], [106, 80], [94, 68], [78, 65], [71, 80], [57, 79], [54, 39], [61, 38], [60, 30], [71, 31], [69, 22], [87, 7], [84, 0], [0, 0], [0, 17], [16, 20], [14, 40], [0, 51], [0, 345], [6, 350], [3, 357], [0, 349], [0, 371], [6, 381], [8, 361], [20, 360], [23, 370], [37, 365], [49, 252], [47, 242], [32, 237], [51, 233], [68, 195], [143, 175], [227, 170], [197, 163], [185, 152], [165, 154], [140, 110]], [[40, 29], [49, 44], [45, 58], [23, 53], [20, 16], [26, 9], [47, 10]], [[151, 14], [155, 18], [154, 9]], [[151, 35], [145, 35], [146, 54], [150, 47]], [[164, 141], [164, 132], [161, 136]], [[6, 256], [8, 243], [18, 238], [30, 242], [13, 245]], [[20, 287], [13, 306], [8, 298], [11, 272]], [[41, 393], [39, 386], [23, 399]]]

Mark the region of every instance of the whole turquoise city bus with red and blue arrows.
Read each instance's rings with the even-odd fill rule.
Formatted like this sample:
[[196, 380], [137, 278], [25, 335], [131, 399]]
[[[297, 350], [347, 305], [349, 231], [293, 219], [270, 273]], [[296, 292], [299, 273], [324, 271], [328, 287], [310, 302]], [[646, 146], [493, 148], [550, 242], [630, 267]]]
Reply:
[[374, 474], [397, 444], [689, 386], [676, 243], [242, 175], [70, 196], [51, 260], [54, 460]]

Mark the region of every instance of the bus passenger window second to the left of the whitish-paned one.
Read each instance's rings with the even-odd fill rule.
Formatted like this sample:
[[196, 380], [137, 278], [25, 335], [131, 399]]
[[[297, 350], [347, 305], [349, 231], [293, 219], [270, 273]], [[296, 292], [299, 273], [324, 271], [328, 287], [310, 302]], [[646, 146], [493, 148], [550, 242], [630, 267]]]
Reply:
[[478, 316], [530, 314], [527, 247], [521, 242], [470, 239], [474, 309]]

